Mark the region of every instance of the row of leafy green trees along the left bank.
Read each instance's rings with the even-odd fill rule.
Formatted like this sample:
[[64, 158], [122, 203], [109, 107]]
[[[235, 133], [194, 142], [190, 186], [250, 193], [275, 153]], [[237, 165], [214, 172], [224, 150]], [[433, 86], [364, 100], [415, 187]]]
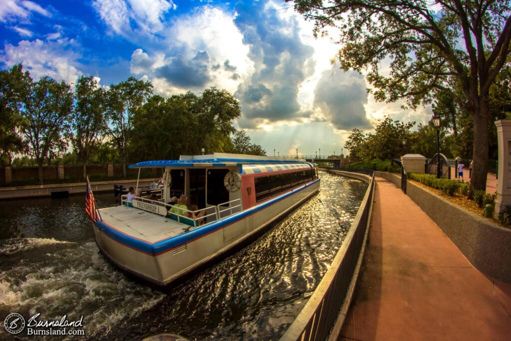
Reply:
[[[169, 98], [152, 95], [152, 84], [128, 78], [108, 90], [95, 77], [78, 79], [75, 92], [50, 77], [35, 81], [22, 65], [0, 70], [0, 156], [5, 164], [39, 166], [56, 158], [92, 163], [175, 159], [180, 154], [244, 152], [265, 155], [234, 127], [238, 100], [207, 88]], [[243, 137], [243, 139], [239, 139]], [[240, 144], [241, 140], [247, 143]], [[246, 140], [246, 141], [245, 141]], [[68, 150], [72, 149], [72, 153]], [[14, 161], [11, 155], [25, 154]], [[124, 172], [126, 171], [123, 167]]]

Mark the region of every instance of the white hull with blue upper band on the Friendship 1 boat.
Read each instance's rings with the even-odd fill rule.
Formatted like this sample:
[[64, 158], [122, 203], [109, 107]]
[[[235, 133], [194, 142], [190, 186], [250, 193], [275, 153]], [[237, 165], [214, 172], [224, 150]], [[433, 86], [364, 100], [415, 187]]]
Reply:
[[153, 243], [128, 236], [99, 221], [96, 243], [115, 265], [137, 277], [166, 285], [257, 234], [314, 195], [319, 179], [275, 196], [248, 210], [230, 215]]

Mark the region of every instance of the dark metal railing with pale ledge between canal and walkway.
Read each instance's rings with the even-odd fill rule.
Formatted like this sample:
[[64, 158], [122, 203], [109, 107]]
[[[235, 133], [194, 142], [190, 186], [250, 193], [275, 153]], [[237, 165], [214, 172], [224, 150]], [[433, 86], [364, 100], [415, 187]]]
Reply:
[[325, 340], [329, 336], [336, 339], [350, 306], [362, 263], [370, 212], [373, 207], [374, 171], [349, 169], [352, 172], [350, 175], [339, 171], [338, 168], [322, 169], [346, 176], [363, 177], [369, 186], [350, 231], [330, 268], [295, 321], [282, 336], [281, 341]]

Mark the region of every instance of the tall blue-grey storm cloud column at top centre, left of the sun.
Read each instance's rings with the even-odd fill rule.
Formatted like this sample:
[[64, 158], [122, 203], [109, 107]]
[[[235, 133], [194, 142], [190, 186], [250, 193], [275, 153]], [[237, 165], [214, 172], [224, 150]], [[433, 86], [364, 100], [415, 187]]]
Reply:
[[296, 19], [281, 18], [281, 13], [255, 1], [238, 3], [236, 11], [235, 24], [255, 65], [249, 82], [240, 84], [235, 94], [245, 117], [240, 124], [248, 127], [250, 121], [275, 122], [310, 115], [300, 111], [298, 87], [310, 76], [307, 62], [313, 49], [301, 42]]

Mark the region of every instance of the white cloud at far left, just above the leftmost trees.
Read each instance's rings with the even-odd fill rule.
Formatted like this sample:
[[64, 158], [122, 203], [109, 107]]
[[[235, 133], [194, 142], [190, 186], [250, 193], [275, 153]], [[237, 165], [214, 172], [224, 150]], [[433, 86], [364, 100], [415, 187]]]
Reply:
[[80, 64], [76, 61], [79, 56], [72, 52], [72, 40], [59, 39], [56, 41], [21, 40], [17, 46], [6, 44], [0, 62], [11, 67], [22, 63], [34, 80], [42, 76], [50, 76], [56, 80], [74, 83], [82, 74]]

